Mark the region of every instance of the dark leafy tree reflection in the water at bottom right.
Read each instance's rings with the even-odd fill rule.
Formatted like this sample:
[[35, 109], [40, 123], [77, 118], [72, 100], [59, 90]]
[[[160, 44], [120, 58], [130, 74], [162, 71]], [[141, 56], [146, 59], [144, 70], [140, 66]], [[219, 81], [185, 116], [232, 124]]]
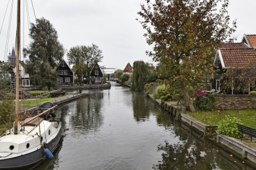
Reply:
[[[175, 124], [175, 122], [174, 122]], [[231, 157], [212, 141], [189, 129], [184, 124], [174, 126], [179, 142], [167, 141], [158, 145], [162, 161], [154, 164], [152, 169], [250, 169], [236, 157]]]

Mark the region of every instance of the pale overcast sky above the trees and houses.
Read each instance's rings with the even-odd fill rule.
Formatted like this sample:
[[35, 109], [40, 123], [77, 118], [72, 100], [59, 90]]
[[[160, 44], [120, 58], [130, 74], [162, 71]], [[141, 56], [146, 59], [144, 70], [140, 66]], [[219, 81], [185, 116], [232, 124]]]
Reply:
[[[0, 24], [8, 1], [0, 2]], [[34, 0], [33, 3], [36, 17], [49, 19], [67, 51], [72, 46], [97, 44], [104, 55], [100, 65], [115, 69], [124, 69], [128, 62], [132, 65], [135, 60], [152, 62], [152, 58], [146, 56], [146, 50], [150, 50], [150, 47], [143, 37], [144, 31], [135, 20], [139, 17], [139, 5], [144, 0]], [[30, 20], [34, 22], [29, 0], [28, 7]], [[238, 41], [241, 41], [243, 34], [256, 34], [255, 7], [255, 0], [230, 0], [228, 10], [231, 19], [237, 19], [238, 28], [234, 35]], [[0, 60], [4, 59], [9, 11], [0, 34]], [[24, 30], [26, 36], [28, 28]], [[15, 15], [11, 35], [8, 52], [15, 44]], [[28, 36], [24, 42], [22, 47], [28, 46]]]

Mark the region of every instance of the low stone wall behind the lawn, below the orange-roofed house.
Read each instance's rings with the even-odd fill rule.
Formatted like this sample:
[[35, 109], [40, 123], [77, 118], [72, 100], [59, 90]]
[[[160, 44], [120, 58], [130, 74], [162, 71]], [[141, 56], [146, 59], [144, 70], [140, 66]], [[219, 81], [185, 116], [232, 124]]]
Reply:
[[218, 110], [256, 109], [256, 95], [215, 95]]

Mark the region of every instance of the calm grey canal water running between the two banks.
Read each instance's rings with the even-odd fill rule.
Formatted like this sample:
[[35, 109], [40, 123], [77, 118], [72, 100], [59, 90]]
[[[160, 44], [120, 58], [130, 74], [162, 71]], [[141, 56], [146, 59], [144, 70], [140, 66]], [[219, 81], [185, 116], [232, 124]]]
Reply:
[[129, 88], [82, 91], [60, 105], [65, 128], [53, 161], [36, 169], [253, 169]]

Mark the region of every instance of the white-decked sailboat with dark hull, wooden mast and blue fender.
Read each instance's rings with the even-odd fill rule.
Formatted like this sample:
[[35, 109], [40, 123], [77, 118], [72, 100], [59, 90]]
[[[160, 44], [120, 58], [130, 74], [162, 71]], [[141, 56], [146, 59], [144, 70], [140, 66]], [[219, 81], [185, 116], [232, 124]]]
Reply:
[[[56, 105], [46, 104], [36, 116], [20, 121], [20, 0], [16, 31], [15, 121], [0, 137], [0, 169], [28, 169], [43, 159], [53, 159], [61, 140], [62, 124], [52, 119]], [[44, 105], [42, 105], [44, 106]]]

